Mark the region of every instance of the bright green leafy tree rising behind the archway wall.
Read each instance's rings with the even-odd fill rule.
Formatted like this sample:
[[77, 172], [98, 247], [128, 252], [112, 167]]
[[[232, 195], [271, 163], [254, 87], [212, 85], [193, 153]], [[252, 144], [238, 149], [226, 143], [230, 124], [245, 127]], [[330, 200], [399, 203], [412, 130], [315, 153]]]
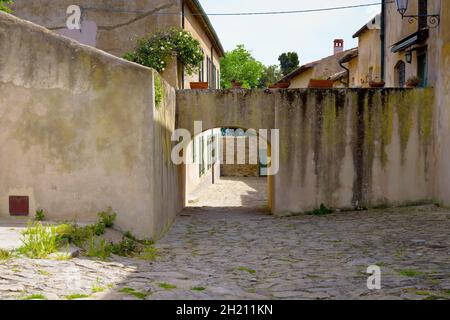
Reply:
[[231, 87], [231, 82], [236, 80], [243, 88], [257, 88], [264, 73], [264, 65], [256, 61], [244, 45], [238, 45], [236, 49], [229, 51], [220, 61], [222, 88]]

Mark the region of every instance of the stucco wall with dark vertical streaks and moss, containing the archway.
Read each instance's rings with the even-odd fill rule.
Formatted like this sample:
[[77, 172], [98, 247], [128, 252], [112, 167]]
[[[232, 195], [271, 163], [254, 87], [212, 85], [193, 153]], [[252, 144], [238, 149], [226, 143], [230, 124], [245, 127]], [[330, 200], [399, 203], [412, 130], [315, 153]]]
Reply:
[[433, 199], [433, 99], [432, 89], [180, 91], [177, 127], [279, 129], [276, 214], [402, 205]]

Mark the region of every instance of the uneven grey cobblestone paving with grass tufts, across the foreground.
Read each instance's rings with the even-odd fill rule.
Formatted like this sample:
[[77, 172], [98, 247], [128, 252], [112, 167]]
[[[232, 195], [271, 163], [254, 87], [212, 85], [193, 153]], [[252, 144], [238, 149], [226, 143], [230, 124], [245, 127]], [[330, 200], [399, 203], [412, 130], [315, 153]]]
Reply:
[[[158, 242], [155, 262], [0, 261], [0, 298], [450, 299], [450, 210], [275, 218], [262, 209], [218, 206], [220, 189], [203, 195], [217, 207], [180, 215]], [[381, 290], [366, 286], [373, 264], [381, 268]]]

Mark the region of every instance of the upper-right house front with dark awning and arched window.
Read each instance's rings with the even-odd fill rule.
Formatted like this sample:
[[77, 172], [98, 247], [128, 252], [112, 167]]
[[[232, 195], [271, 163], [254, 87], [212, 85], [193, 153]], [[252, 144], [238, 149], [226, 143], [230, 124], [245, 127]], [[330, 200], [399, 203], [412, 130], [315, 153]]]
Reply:
[[404, 87], [408, 79], [417, 77], [419, 86], [435, 86], [439, 68], [437, 59], [442, 25], [427, 15], [441, 14], [447, 0], [409, 1], [406, 16], [398, 12], [394, 1], [383, 1], [384, 80], [388, 87]]

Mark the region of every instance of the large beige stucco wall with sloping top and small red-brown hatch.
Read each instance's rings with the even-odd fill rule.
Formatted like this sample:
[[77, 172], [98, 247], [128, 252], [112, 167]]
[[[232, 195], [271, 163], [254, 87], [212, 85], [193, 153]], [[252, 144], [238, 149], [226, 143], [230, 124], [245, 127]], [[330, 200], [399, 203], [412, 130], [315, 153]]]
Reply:
[[183, 202], [175, 91], [156, 106], [154, 75], [0, 12], [0, 216], [29, 196], [31, 215], [94, 220], [111, 206], [120, 228], [160, 235]]

